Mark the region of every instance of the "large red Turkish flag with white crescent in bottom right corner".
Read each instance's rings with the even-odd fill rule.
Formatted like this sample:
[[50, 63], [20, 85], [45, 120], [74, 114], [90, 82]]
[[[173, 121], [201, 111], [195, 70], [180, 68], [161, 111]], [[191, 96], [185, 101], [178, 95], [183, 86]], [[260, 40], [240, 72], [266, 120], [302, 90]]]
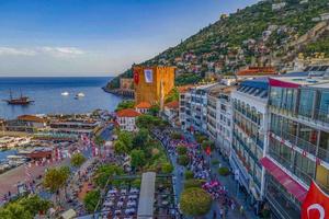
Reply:
[[329, 196], [315, 182], [311, 182], [302, 205], [302, 219], [326, 218], [329, 218]]

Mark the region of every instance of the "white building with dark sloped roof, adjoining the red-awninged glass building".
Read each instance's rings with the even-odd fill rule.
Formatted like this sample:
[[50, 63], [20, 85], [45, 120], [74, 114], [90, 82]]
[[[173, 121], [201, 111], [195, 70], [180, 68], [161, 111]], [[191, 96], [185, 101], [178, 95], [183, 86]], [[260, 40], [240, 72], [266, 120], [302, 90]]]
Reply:
[[266, 151], [268, 87], [266, 78], [247, 80], [231, 93], [234, 124], [229, 162], [254, 206], [264, 197], [265, 171], [260, 160]]

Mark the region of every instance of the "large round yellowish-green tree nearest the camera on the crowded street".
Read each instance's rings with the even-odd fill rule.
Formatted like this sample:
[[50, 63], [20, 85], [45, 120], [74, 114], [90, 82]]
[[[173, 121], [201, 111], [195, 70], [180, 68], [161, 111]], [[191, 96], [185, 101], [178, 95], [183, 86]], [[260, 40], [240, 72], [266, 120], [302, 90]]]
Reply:
[[211, 207], [212, 197], [202, 188], [186, 188], [181, 194], [180, 208], [186, 216], [204, 216], [211, 210]]

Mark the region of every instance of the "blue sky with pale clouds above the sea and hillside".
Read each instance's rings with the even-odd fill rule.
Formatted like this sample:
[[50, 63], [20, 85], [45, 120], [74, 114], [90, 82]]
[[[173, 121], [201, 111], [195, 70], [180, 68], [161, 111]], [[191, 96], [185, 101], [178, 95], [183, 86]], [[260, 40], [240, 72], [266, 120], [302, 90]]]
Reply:
[[258, 0], [0, 0], [0, 77], [116, 76]]

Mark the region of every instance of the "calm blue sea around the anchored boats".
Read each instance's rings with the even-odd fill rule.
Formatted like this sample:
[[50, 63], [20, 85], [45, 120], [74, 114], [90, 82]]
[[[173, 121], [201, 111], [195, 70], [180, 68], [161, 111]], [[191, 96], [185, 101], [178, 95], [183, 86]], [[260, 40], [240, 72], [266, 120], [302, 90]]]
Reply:
[[[71, 114], [88, 113], [97, 108], [114, 111], [121, 97], [106, 93], [102, 87], [111, 80], [107, 77], [94, 78], [0, 78], [0, 117], [14, 118], [22, 114]], [[27, 106], [8, 105], [9, 91], [14, 96], [24, 95], [35, 102]], [[63, 92], [70, 95], [63, 96]], [[86, 96], [75, 100], [83, 92]]]

